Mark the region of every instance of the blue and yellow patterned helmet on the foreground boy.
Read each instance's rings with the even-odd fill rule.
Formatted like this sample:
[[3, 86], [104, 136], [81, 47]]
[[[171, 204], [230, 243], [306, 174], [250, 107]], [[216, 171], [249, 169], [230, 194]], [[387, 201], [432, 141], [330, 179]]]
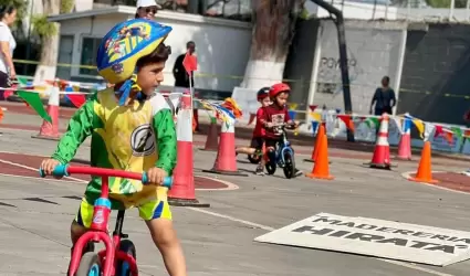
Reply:
[[[130, 89], [137, 85], [137, 61], [150, 54], [171, 32], [171, 26], [147, 19], [132, 19], [115, 25], [102, 40], [96, 66], [98, 74], [111, 84], [123, 83], [116, 94], [124, 105]], [[142, 98], [138, 94], [138, 98]]]

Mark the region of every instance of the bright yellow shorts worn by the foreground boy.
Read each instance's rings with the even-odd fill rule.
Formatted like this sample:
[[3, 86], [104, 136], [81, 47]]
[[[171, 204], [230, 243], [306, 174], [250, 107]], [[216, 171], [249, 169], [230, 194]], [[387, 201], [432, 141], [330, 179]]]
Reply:
[[[155, 219], [171, 220], [171, 211], [168, 201], [150, 200], [137, 206], [138, 214], [144, 221], [152, 221]], [[88, 229], [93, 220], [94, 205], [90, 204], [85, 198], [80, 203], [79, 213], [75, 216], [75, 222]]]

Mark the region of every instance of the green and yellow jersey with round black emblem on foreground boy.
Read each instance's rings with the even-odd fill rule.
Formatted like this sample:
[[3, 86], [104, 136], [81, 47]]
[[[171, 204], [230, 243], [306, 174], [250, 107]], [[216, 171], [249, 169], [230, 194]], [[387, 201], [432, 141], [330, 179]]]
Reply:
[[[153, 167], [171, 174], [176, 164], [176, 130], [170, 108], [160, 94], [119, 106], [113, 88], [93, 95], [71, 118], [52, 158], [69, 163], [79, 146], [92, 136], [91, 166], [133, 172]], [[167, 200], [167, 188], [109, 178], [113, 209]], [[85, 199], [93, 204], [101, 194], [101, 178], [92, 177]]]

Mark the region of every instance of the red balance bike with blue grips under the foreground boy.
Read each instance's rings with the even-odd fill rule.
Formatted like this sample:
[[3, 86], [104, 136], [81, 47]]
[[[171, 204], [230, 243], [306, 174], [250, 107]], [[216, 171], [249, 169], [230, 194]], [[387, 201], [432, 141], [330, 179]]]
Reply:
[[[45, 177], [42, 169], [39, 172], [41, 177]], [[101, 177], [102, 192], [94, 203], [93, 221], [90, 230], [73, 246], [69, 276], [137, 276], [136, 248], [134, 243], [127, 240], [128, 235], [123, 233], [124, 210], [119, 210], [117, 213], [116, 226], [112, 237], [107, 231], [111, 213], [108, 178], [140, 180], [142, 183], [146, 184], [148, 183], [147, 173], [69, 164], [60, 164], [52, 172], [55, 177], [69, 177], [71, 173]], [[163, 185], [170, 188], [171, 184], [173, 178], [165, 178]], [[90, 243], [100, 242], [104, 243], [105, 250], [97, 253], [93, 251], [86, 252], [85, 248]]]

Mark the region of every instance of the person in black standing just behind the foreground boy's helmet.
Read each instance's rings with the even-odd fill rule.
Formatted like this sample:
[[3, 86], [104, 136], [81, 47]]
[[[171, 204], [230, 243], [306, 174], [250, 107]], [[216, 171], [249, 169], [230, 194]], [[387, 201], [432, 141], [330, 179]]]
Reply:
[[[186, 51], [189, 54], [194, 54], [196, 52], [196, 43], [194, 41], [189, 41], [186, 43]], [[173, 76], [175, 77], [175, 87], [185, 87], [189, 88], [189, 79], [191, 82], [192, 88], [195, 87], [195, 77], [191, 75], [191, 78], [189, 78], [188, 73], [185, 70], [185, 66], [182, 65], [182, 61], [185, 61], [186, 53], [180, 54], [176, 61], [175, 65], [173, 67]], [[198, 109], [192, 109], [192, 116], [194, 116], [194, 123], [196, 124], [195, 131], [199, 131], [199, 116], [198, 116]]]

